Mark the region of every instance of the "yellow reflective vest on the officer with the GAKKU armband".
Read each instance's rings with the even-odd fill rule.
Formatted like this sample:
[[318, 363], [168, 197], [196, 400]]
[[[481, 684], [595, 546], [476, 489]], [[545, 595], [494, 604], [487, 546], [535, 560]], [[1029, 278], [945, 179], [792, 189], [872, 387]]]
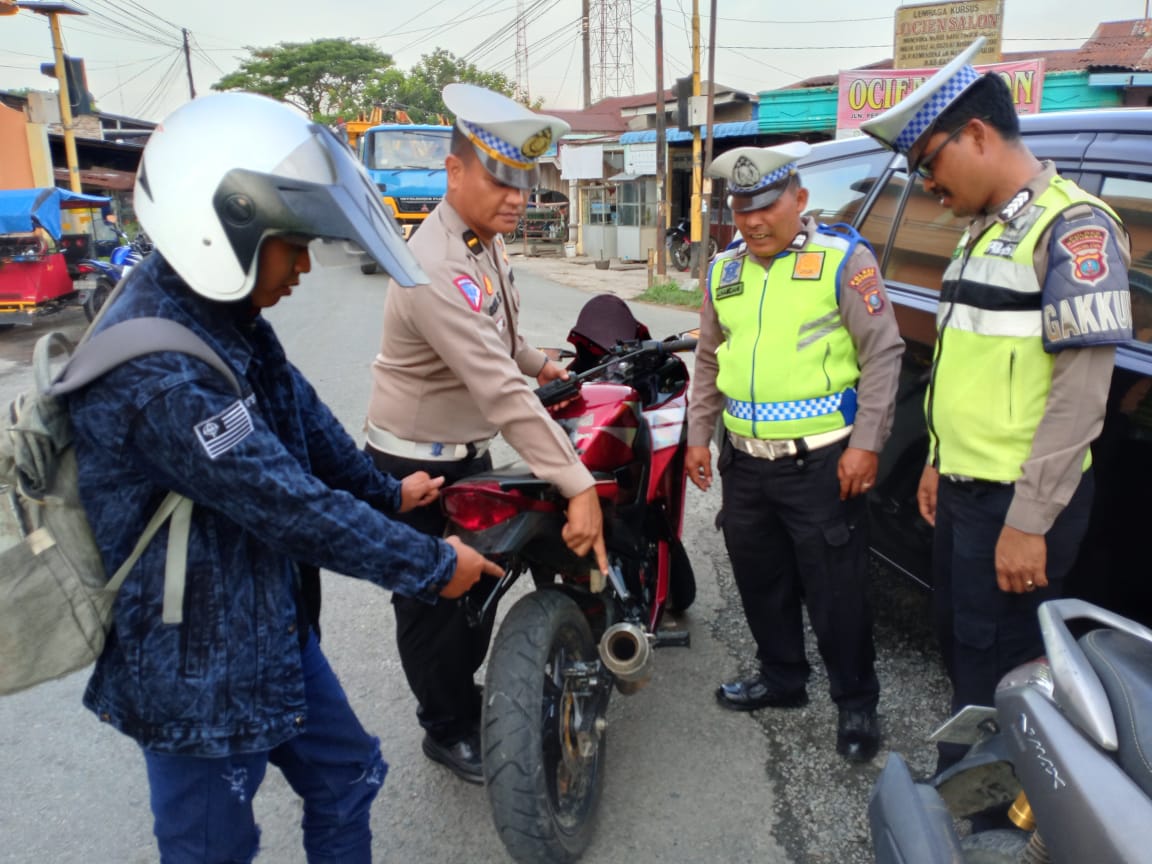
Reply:
[[[1023, 473], [1052, 387], [1044, 350], [1036, 244], [1069, 207], [1119, 217], [1071, 181], [1048, 188], [1011, 221], [968, 232], [943, 274], [937, 356], [925, 399], [930, 456], [941, 473], [1011, 483]], [[1011, 206], [1011, 205], [1009, 205]], [[1092, 462], [1084, 456], [1084, 470]]]

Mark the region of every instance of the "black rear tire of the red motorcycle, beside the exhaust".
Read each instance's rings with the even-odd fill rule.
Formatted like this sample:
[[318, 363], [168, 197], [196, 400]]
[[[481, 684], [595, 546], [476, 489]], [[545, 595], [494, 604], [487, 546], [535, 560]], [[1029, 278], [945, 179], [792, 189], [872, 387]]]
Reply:
[[604, 786], [605, 737], [582, 755], [568, 723], [576, 707], [564, 668], [591, 662], [596, 643], [576, 602], [559, 591], [522, 597], [492, 645], [480, 741], [497, 832], [517, 862], [575, 862], [592, 839]]

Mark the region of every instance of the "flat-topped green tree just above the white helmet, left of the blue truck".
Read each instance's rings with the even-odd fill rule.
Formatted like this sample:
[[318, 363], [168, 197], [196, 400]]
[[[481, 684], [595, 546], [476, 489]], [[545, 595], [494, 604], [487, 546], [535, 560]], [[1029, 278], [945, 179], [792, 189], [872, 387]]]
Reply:
[[351, 116], [371, 105], [367, 92], [388, 76], [392, 56], [350, 39], [245, 47], [251, 56], [213, 90], [249, 90], [295, 105], [319, 122]]

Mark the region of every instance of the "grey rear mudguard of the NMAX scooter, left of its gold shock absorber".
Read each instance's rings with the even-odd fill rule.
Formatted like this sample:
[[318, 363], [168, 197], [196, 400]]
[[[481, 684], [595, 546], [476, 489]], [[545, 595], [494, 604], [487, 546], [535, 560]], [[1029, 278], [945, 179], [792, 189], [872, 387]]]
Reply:
[[962, 864], [960, 839], [943, 798], [931, 786], [912, 782], [899, 753], [872, 788], [867, 805], [877, 864]]

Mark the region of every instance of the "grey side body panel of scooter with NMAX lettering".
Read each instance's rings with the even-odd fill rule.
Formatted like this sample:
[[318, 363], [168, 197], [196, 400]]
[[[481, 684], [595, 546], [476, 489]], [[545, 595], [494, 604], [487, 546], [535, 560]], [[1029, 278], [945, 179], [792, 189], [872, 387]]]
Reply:
[[1121, 864], [1147, 861], [1152, 799], [1040, 691], [996, 695], [1001, 736], [1028, 793], [1053, 861]]

